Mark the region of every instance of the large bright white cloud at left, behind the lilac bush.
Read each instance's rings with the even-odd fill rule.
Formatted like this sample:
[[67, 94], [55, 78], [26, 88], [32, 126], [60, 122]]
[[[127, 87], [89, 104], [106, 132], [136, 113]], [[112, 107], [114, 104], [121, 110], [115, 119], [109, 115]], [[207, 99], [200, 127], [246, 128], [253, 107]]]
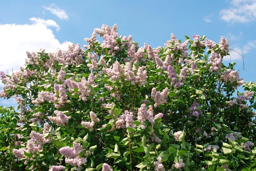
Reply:
[[46, 49], [46, 52], [56, 52], [57, 49], [67, 49], [71, 42], [60, 43], [55, 38], [49, 26], [58, 28], [52, 20], [30, 18], [34, 23], [16, 25], [0, 25], [0, 71], [12, 73], [24, 66], [26, 51], [37, 52], [39, 49]]

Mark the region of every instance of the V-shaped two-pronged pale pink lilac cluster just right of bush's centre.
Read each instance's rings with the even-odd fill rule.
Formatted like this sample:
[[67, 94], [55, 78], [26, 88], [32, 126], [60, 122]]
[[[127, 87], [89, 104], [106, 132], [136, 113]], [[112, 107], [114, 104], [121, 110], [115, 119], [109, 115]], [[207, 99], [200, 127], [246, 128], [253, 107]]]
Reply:
[[167, 103], [166, 97], [168, 95], [168, 87], [166, 87], [163, 92], [157, 91], [157, 89], [154, 87], [151, 90], [151, 99], [155, 101], [154, 107], [159, 106], [160, 104]]

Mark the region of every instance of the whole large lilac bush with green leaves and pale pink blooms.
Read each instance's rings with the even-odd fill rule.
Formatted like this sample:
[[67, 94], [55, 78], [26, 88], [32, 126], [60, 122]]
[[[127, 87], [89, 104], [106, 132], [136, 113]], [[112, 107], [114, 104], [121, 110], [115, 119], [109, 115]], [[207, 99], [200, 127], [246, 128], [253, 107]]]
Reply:
[[0, 72], [19, 104], [0, 108], [1, 170], [255, 170], [256, 85], [222, 63], [227, 39], [139, 47], [103, 25], [84, 40]]

